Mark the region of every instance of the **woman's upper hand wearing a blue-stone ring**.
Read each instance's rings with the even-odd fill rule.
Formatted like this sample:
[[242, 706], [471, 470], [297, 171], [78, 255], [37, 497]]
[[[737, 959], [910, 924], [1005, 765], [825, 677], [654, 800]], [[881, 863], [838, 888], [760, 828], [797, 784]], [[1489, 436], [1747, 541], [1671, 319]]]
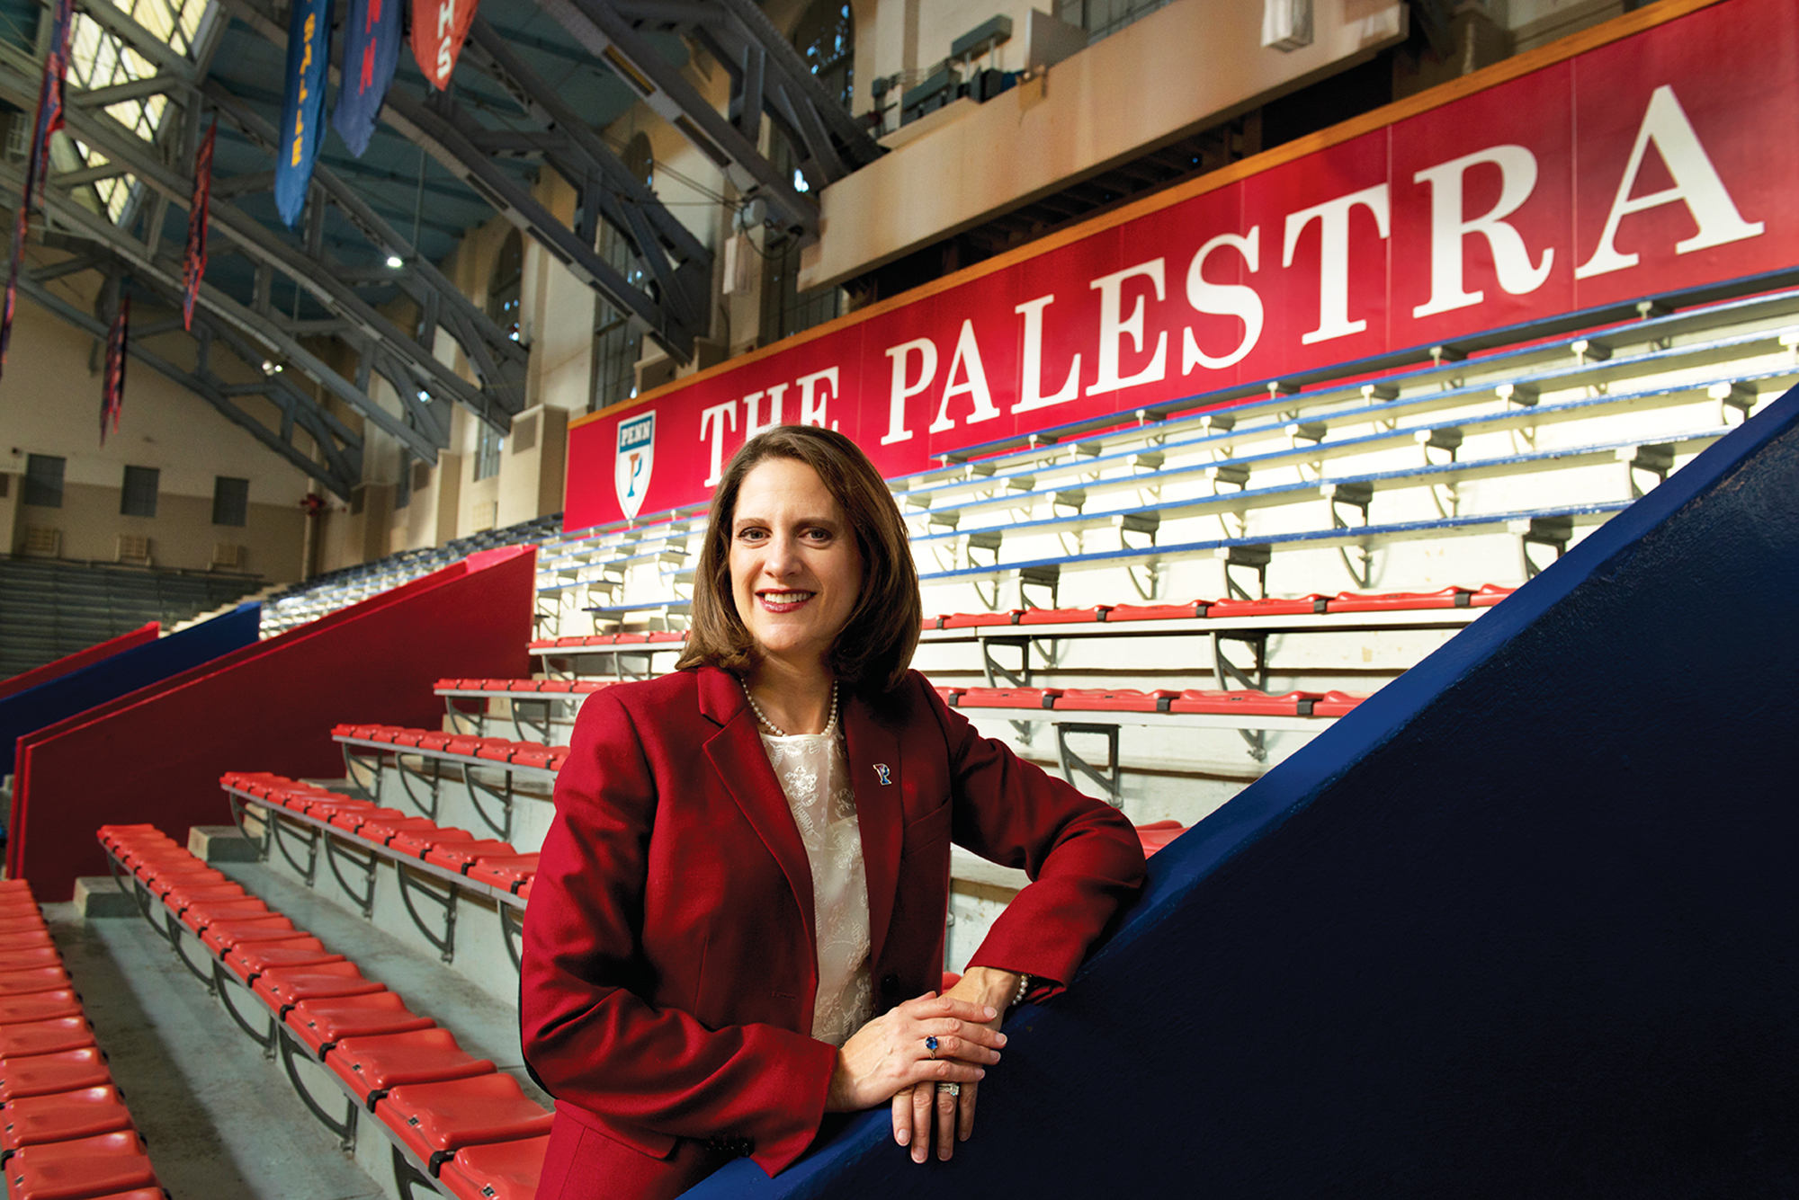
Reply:
[[[997, 1063], [1004, 1037], [984, 1022], [998, 1013], [926, 992], [856, 1029], [837, 1051], [828, 1112], [873, 1108], [914, 1083], [975, 1083]], [[937, 1038], [937, 1049], [925, 1038]], [[935, 1056], [934, 1056], [935, 1054]]]

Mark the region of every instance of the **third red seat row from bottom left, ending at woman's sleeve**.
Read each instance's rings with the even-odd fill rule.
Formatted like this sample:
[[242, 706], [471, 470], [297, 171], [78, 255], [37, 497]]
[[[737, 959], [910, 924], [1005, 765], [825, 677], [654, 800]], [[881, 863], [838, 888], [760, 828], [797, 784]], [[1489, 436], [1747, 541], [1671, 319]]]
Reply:
[[383, 808], [367, 799], [353, 799], [342, 792], [299, 783], [266, 771], [227, 771], [219, 787], [232, 789], [263, 805], [286, 808], [324, 821], [335, 832], [360, 839], [390, 857], [417, 859], [448, 868], [468, 878], [500, 887], [515, 896], [531, 895], [531, 877], [538, 869], [538, 855], [518, 853], [511, 843], [475, 837], [453, 825], [437, 825], [430, 817], [407, 816], [399, 808]]

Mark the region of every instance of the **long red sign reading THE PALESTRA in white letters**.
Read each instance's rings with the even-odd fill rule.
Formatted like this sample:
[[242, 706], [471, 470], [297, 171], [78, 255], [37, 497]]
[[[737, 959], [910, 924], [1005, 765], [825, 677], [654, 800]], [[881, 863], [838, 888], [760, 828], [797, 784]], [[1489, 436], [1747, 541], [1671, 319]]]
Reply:
[[[570, 428], [568, 530], [775, 422], [935, 454], [1799, 264], [1799, 5], [1727, 0]], [[640, 429], [640, 426], [633, 426]], [[630, 429], [628, 429], [630, 431]], [[655, 451], [655, 447], [649, 447]], [[642, 447], [635, 447], [642, 454]]]

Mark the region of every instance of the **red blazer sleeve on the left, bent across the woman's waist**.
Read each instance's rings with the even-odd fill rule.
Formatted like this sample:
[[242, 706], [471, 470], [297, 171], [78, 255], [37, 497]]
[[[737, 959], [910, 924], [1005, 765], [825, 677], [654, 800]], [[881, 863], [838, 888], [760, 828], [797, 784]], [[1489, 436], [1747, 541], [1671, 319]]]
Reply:
[[657, 970], [640, 938], [655, 812], [640, 731], [624, 704], [594, 693], [556, 781], [525, 913], [525, 1062], [552, 1096], [639, 1150], [660, 1157], [673, 1137], [750, 1137], [772, 1175], [819, 1132], [837, 1051], [770, 1024], [709, 1029], [642, 999]]

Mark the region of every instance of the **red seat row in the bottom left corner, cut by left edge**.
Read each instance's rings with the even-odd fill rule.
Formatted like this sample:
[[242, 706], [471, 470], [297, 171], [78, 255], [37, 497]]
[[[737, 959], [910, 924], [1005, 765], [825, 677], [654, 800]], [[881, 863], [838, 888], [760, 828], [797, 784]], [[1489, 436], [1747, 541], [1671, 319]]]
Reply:
[[13, 1200], [162, 1200], [25, 880], [0, 882], [0, 1103]]

